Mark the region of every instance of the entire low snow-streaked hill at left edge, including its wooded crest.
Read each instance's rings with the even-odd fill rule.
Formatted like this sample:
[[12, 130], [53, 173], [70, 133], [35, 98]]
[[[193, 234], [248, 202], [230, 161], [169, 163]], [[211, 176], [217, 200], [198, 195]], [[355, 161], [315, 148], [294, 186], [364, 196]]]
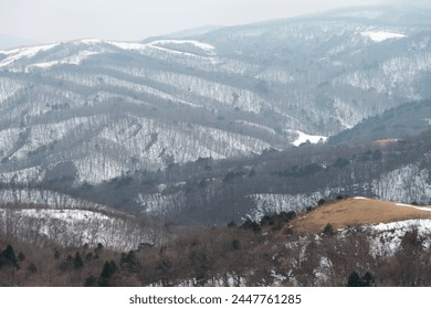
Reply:
[[166, 236], [157, 222], [48, 190], [1, 190], [0, 201], [0, 234], [39, 246], [130, 251]]

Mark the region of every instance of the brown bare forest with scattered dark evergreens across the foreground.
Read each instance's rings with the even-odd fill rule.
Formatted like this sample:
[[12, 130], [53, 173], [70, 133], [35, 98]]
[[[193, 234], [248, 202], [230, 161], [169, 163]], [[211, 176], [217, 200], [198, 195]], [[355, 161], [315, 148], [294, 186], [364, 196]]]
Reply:
[[[325, 204], [319, 207], [325, 207]], [[314, 210], [309, 210], [313, 212]], [[306, 213], [305, 213], [306, 214]], [[304, 214], [299, 214], [304, 215]], [[162, 244], [114, 252], [1, 236], [1, 286], [430, 286], [431, 235], [412, 225], [392, 253], [360, 225], [297, 233], [294, 212], [236, 226], [180, 227]], [[378, 241], [378, 239], [377, 239]], [[381, 239], [381, 242], [383, 242]], [[389, 244], [386, 244], [389, 245]]]

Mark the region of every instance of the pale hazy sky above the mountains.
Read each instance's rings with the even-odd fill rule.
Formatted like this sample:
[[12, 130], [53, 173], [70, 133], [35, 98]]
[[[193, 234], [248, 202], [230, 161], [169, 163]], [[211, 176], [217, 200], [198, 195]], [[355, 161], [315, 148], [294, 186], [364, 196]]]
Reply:
[[38, 42], [136, 41], [202, 25], [288, 18], [383, 0], [0, 0], [0, 34]]

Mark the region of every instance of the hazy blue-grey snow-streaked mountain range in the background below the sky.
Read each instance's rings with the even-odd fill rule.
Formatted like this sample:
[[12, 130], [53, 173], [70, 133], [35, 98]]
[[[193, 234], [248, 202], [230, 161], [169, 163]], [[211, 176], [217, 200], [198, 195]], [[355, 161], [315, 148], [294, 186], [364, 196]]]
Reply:
[[1, 51], [1, 178], [96, 184], [337, 134], [430, 97], [430, 15], [377, 7]]

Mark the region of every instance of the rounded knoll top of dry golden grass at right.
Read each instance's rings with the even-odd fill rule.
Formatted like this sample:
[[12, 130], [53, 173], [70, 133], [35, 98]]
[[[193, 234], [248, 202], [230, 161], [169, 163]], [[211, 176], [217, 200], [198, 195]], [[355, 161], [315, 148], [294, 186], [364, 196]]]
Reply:
[[[334, 228], [348, 225], [388, 223], [410, 219], [431, 219], [431, 211], [420, 210], [420, 206], [406, 207], [392, 202], [348, 199], [328, 203], [316, 210], [298, 215], [293, 227], [299, 233], [322, 232], [326, 224]], [[430, 209], [423, 206], [423, 209]]]

